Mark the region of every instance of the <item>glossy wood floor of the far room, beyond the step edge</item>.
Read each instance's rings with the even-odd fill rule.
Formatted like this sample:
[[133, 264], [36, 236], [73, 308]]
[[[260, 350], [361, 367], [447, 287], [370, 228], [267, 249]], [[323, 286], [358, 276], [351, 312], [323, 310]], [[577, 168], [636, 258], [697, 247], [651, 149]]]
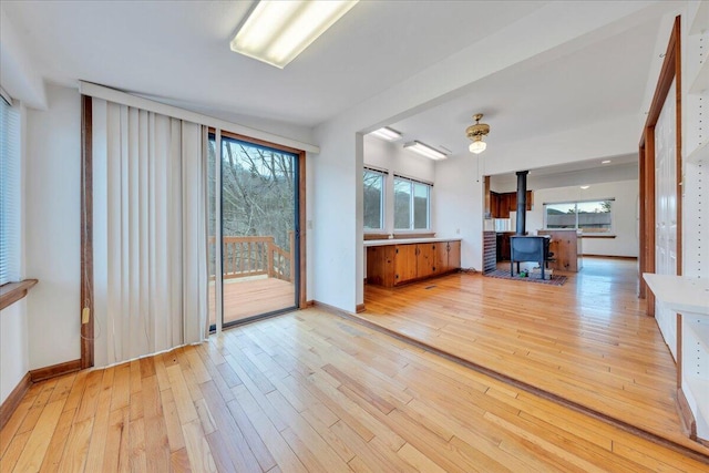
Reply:
[[675, 362], [636, 265], [584, 258], [562, 287], [480, 274], [367, 286], [358, 317], [707, 454], [681, 432]]

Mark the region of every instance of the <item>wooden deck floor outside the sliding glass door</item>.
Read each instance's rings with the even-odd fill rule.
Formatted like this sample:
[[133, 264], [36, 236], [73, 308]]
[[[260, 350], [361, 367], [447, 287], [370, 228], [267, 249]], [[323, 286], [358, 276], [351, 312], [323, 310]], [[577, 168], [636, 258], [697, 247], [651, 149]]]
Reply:
[[[225, 279], [224, 322], [234, 322], [261, 313], [296, 306], [292, 282], [265, 276]], [[214, 285], [209, 287], [209, 323], [214, 323]]]

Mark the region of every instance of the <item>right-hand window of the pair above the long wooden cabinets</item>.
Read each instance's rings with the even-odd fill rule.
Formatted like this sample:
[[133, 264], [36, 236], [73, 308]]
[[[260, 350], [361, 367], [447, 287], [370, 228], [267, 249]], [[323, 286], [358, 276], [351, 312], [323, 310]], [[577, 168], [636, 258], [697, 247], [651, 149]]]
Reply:
[[394, 229], [430, 228], [431, 184], [394, 176]]

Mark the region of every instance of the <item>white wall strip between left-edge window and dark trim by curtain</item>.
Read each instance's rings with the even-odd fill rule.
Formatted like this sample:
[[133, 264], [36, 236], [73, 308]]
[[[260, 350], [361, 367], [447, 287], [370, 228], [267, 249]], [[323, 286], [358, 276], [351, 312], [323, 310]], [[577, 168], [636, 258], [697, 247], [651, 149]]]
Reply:
[[47, 92], [48, 110], [29, 111], [27, 127], [27, 275], [39, 279], [27, 297], [30, 369], [81, 356], [81, 97]]

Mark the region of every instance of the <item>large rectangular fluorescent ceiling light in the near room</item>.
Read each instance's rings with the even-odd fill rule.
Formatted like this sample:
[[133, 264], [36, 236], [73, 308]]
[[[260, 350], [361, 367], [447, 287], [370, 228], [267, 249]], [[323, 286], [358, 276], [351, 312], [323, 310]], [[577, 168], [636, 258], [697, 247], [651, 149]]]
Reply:
[[357, 2], [261, 0], [232, 40], [232, 51], [284, 69]]

